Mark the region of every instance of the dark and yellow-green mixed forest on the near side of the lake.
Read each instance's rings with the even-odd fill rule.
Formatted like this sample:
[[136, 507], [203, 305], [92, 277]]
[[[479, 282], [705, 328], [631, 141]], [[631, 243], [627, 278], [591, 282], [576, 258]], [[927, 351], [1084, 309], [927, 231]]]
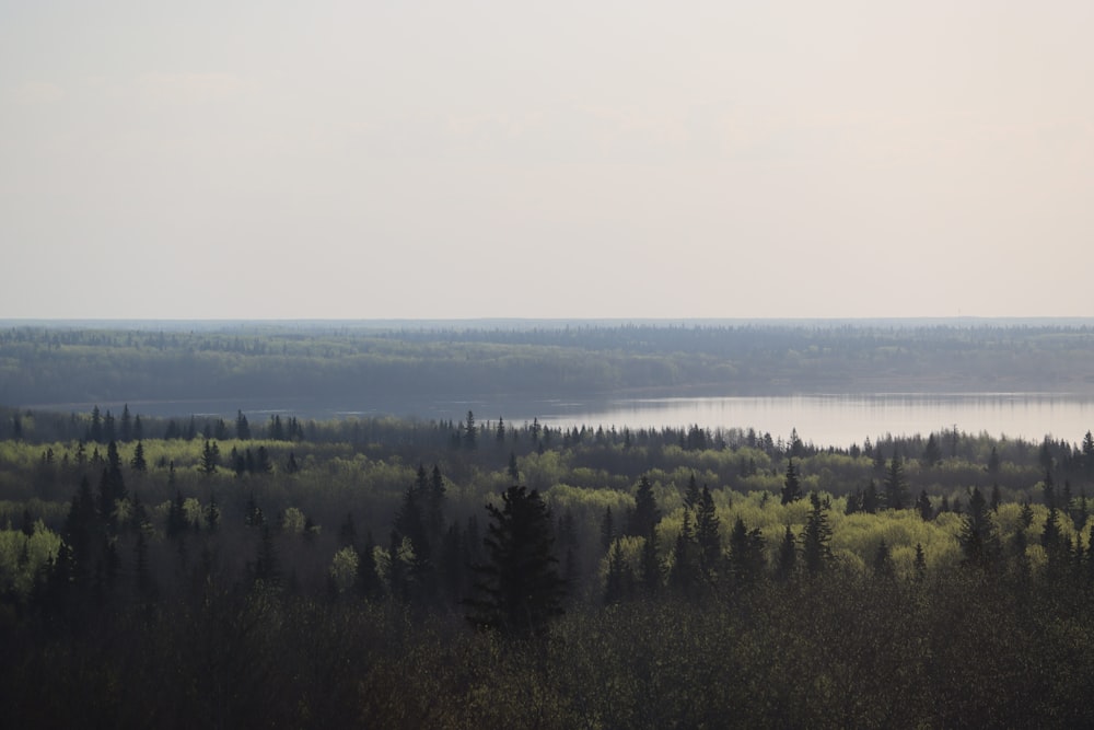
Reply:
[[1090, 432], [0, 428], [12, 727], [1094, 725]]

